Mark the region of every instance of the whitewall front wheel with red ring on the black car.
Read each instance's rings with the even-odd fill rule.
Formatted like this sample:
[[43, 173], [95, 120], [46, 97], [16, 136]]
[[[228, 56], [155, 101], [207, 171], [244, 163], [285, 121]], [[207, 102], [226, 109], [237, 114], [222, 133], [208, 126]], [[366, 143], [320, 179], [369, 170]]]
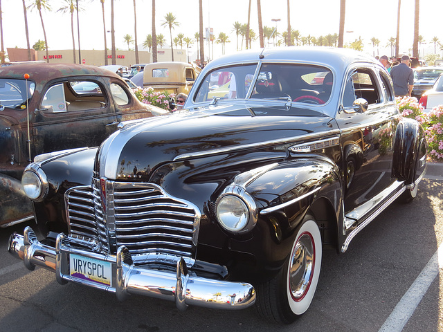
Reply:
[[313, 216], [307, 214], [298, 229], [284, 267], [257, 287], [257, 310], [262, 317], [291, 324], [305, 313], [320, 276], [322, 241]]

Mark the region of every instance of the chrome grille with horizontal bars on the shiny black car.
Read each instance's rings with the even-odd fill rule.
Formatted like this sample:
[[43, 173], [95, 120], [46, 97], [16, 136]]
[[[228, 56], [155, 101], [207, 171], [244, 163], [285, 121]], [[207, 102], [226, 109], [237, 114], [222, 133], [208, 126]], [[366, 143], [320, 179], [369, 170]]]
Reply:
[[92, 186], [66, 192], [72, 239], [89, 241], [111, 254], [126, 246], [138, 262], [195, 258], [200, 220], [195, 205], [152, 183], [104, 181], [105, 206], [98, 178], [93, 178]]

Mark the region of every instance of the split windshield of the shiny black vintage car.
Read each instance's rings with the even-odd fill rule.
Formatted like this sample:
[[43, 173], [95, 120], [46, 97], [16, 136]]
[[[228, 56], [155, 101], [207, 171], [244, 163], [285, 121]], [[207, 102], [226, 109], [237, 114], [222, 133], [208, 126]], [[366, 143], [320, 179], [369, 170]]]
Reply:
[[332, 72], [307, 64], [262, 64], [253, 82], [255, 64], [219, 68], [206, 74], [195, 102], [254, 98], [324, 104], [332, 91]]

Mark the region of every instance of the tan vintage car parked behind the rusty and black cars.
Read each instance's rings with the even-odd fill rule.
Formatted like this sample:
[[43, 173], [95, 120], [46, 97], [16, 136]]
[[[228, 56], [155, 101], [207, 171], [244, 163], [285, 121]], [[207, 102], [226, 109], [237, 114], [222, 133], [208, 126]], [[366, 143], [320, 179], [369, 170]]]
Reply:
[[155, 91], [188, 94], [201, 69], [186, 62], [155, 62], [143, 71], [143, 87]]

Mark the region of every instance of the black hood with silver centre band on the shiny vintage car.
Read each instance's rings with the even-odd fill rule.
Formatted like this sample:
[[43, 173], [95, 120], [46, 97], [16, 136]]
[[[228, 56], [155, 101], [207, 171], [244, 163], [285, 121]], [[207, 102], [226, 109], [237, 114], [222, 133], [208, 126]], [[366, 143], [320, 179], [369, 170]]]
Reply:
[[214, 154], [239, 154], [287, 145], [326, 131], [331, 120], [310, 109], [219, 107], [151, 118], [111, 136], [100, 147], [96, 171], [107, 178], [149, 178], [175, 161]]

